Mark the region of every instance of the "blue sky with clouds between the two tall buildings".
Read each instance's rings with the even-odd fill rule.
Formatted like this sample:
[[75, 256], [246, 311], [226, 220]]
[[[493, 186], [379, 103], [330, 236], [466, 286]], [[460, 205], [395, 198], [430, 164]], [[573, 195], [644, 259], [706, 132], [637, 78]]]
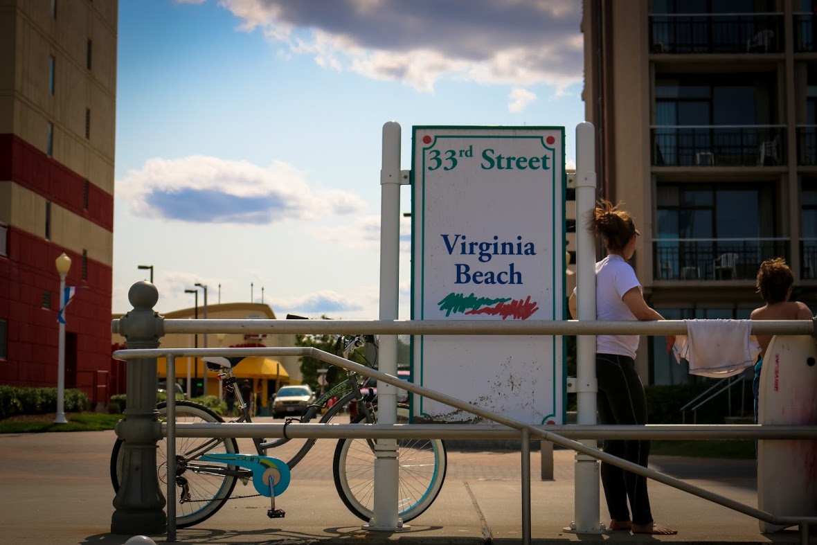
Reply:
[[[382, 131], [584, 118], [576, 0], [120, 0], [113, 312], [377, 319]], [[408, 186], [400, 210], [411, 210]], [[409, 319], [411, 218], [400, 220]], [[203, 316], [203, 292], [198, 296]]]

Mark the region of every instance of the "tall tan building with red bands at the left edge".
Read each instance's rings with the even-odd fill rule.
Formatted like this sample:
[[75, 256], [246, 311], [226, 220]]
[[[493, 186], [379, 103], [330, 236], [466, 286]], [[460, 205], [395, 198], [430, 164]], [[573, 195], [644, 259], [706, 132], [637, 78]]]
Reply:
[[109, 396], [118, 2], [0, 0], [0, 383]]

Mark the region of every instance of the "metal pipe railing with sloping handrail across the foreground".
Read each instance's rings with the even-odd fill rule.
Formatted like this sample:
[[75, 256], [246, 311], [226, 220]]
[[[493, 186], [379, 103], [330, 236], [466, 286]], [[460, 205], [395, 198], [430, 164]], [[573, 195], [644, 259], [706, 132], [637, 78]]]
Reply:
[[[145, 312], [145, 308], [140, 309]], [[127, 315], [124, 319], [127, 319]], [[158, 330], [156, 338], [161, 337], [163, 333], [304, 333], [304, 323], [301, 320], [275, 320], [275, 319], [210, 319], [210, 320], [196, 320], [194, 324], [190, 323], [188, 319], [163, 319], [161, 328]], [[118, 333], [119, 321], [114, 320], [112, 330]], [[469, 320], [426, 320], [426, 321], [391, 321], [391, 320], [373, 320], [373, 321], [333, 321], [333, 320], [316, 320], [310, 322], [310, 333], [351, 333], [365, 331], [372, 334], [381, 335], [395, 335], [400, 333], [412, 334], [431, 334], [431, 335], [456, 335], [456, 334], [502, 334], [502, 335], [524, 335], [524, 334], [539, 334], [539, 335], [560, 335], [560, 334], [600, 334], [600, 333], [628, 333], [628, 334], [649, 334], [649, 335], [665, 335], [665, 334], [685, 334], [686, 324], [683, 320], [663, 320], [657, 322], [600, 322], [600, 321], [533, 321], [528, 323], [513, 323], [503, 324], [498, 321], [469, 321]], [[144, 332], [143, 332], [144, 333]], [[756, 321], [752, 322], [752, 334], [809, 334], [815, 333], [814, 320], [792, 320], [792, 321]], [[123, 360], [137, 360], [135, 363], [137, 367], [144, 361], [150, 361], [155, 364], [157, 357], [167, 358], [167, 380], [175, 380], [175, 361], [177, 357], [194, 356], [201, 357], [203, 355], [261, 355], [261, 356], [310, 356], [319, 360], [324, 360], [328, 364], [337, 365], [343, 369], [351, 370], [355, 373], [363, 374], [368, 377], [376, 378], [378, 381], [386, 382], [392, 386], [399, 386], [404, 390], [408, 390], [417, 395], [422, 395], [432, 400], [440, 401], [448, 404], [456, 409], [462, 409], [468, 413], [473, 413], [481, 418], [498, 422], [503, 427], [512, 428], [517, 431], [521, 439], [522, 450], [522, 536], [523, 543], [531, 543], [531, 525], [530, 525], [530, 437], [538, 437], [541, 440], [551, 441], [567, 449], [573, 449], [578, 453], [586, 454], [591, 458], [609, 462], [618, 467], [622, 467], [627, 471], [632, 471], [639, 475], [648, 477], [650, 479], [658, 480], [659, 482], [670, 485], [676, 489], [683, 490], [690, 494], [699, 496], [700, 498], [708, 499], [709, 501], [718, 503], [724, 507], [733, 509], [734, 511], [742, 512], [748, 516], [752, 516], [759, 520], [765, 520], [770, 524], [778, 525], [800, 525], [802, 543], [808, 543], [808, 528], [809, 524], [817, 523], [817, 517], [814, 516], [775, 516], [769, 512], [761, 511], [755, 507], [736, 502], [730, 498], [725, 498], [719, 494], [714, 494], [706, 489], [701, 489], [697, 486], [690, 485], [683, 480], [676, 479], [671, 476], [664, 475], [659, 471], [651, 470], [647, 467], [628, 462], [622, 458], [616, 458], [609, 453], [605, 453], [599, 449], [580, 443], [576, 440], [569, 439], [568, 434], [570, 429], [562, 427], [548, 426], [547, 429], [526, 424], [524, 422], [516, 421], [512, 418], [499, 413], [493, 413], [489, 410], [482, 409], [474, 404], [467, 403], [462, 400], [455, 399], [442, 392], [431, 390], [425, 386], [418, 386], [412, 382], [406, 382], [399, 377], [391, 376], [382, 373], [375, 369], [370, 369], [364, 365], [355, 364], [350, 360], [345, 360], [340, 356], [328, 354], [324, 351], [311, 347], [301, 348], [221, 348], [221, 349], [133, 349], [114, 352], [114, 357]], [[130, 376], [130, 373], [129, 373]], [[138, 376], [136, 373], [134, 377]], [[150, 380], [150, 387], [145, 384], [129, 385], [128, 389], [134, 388], [136, 392], [153, 391], [154, 385], [152, 381], [154, 377], [143, 377], [145, 382]], [[146, 400], [146, 398], [145, 398]], [[167, 436], [167, 471], [169, 474], [175, 472], [175, 439], [176, 436], [205, 436], [205, 437], [282, 437], [284, 424], [230, 424], [230, 426], [212, 425], [212, 424], [180, 424], [176, 427], [175, 424], [175, 400], [172, 396], [167, 399], [167, 422], [169, 424], [163, 426], [163, 435]], [[312, 429], [316, 427], [315, 429]], [[319, 428], [317, 428], [319, 427]], [[413, 429], [415, 428], [415, 429]], [[576, 428], [571, 426], [570, 428]], [[783, 427], [757, 427], [751, 425], [742, 426], [708, 426], [710, 433], [705, 433], [701, 429], [695, 427], [598, 427], [598, 426], [584, 426], [582, 427], [589, 435], [588, 438], [598, 438], [600, 436], [610, 437], [611, 434], [624, 434], [634, 438], [659, 438], [663, 437], [663, 432], [675, 430], [672, 434], [674, 438], [679, 439], [681, 436], [688, 436], [691, 439], [704, 439], [707, 436], [711, 437], [713, 428], [717, 428], [718, 437], [720, 439], [802, 439], [812, 438], [817, 434], [817, 427], [788, 427], [784, 430]], [[629, 428], [629, 429], [626, 429]], [[764, 429], [767, 428], [767, 429]], [[318, 431], [320, 429], [320, 432]], [[439, 437], [452, 438], [460, 434], [460, 438], [471, 438], [475, 434], [475, 428], [471, 424], [455, 425], [444, 424], [441, 427], [429, 425], [409, 424], [408, 426], [399, 425], [373, 425], [361, 427], [359, 425], [337, 425], [333, 424], [331, 429], [321, 424], [303, 425], [298, 427], [289, 427], [287, 430], [288, 436], [294, 436], [293, 433], [302, 432], [303, 437], [333, 437], [333, 438], [394, 438], [398, 439], [407, 436], [409, 431], [416, 433], [417, 436], [423, 437]], [[416, 430], [416, 431], [415, 431]], [[456, 430], [456, 433], [455, 433]], [[557, 432], [558, 430], [558, 432]], [[484, 431], [481, 430], [480, 431]], [[119, 430], [118, 430], [119, 432]], [[496, 432], [494, 432], [496, 433]], [[199, 435], [201, 434], [201, 435]], [[322, 435], [323, 434], [323, 435]], [[439, 434], [439, 435], [437, 435]], [[688, 434], [688, 435], [687, 435]], [[475, 435], [474, 438], [479, 438]], [[127, 467], [123, 471], [128, 471]], [[175, 503], [175, 483], [168, 480], [167, 483], [167, 518], [169, 520], [167, 527], [168, 541], [175, 541], [176, 527], [175, 527], [175, 511], [171, 507]], [[117, 497], [118, 498], [118, 497]], [[114, 506], [116, 501], [114, 500]], [[114, 514], [115, 516], [116, 514]]]

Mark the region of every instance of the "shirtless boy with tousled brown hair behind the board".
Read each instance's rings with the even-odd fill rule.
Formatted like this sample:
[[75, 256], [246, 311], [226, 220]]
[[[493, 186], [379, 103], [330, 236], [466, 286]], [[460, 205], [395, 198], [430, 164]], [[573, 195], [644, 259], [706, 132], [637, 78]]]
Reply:
[[[811, 310], [806, 303], [789, 301], [792, 297], [794, 275], [786, 265], [783, 257], [767, 259], [757, 270], [755, 287], [766, 305], [752, 310], [751, 319], [811, 319]], [[763, 356], [771, 342], [771, 335], [756, 335], [757, 344], [761, 346], [761, 355], [755, 364], [755, 378], [752, 391], [755, 394], [755, 423], [757, 424], [757, 403], [760, 399], [761, 369]]]

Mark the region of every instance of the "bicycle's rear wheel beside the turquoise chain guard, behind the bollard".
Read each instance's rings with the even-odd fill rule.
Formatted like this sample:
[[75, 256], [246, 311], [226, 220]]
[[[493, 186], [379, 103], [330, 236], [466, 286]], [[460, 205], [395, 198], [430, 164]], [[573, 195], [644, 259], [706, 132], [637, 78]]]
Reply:
[[[167, 405], [157, 405], [158, 418], [167, 420]], [[176, 401], [176, 422], [224, 422], [202, 404]], [[122, 482], [124, 442], [117, 439], [110, 457], [110, 478], [114, 490]], [[167, 440], [158, 442], [156, 471], [164, 493], [167, 490]], [[234, 439], [176, 437], [176, 527], [186, 528], [207, 520], [221, 509], [235, 487], [238, 468], [217, 462], [199, 462], [203, 453], [238, 453]]]

